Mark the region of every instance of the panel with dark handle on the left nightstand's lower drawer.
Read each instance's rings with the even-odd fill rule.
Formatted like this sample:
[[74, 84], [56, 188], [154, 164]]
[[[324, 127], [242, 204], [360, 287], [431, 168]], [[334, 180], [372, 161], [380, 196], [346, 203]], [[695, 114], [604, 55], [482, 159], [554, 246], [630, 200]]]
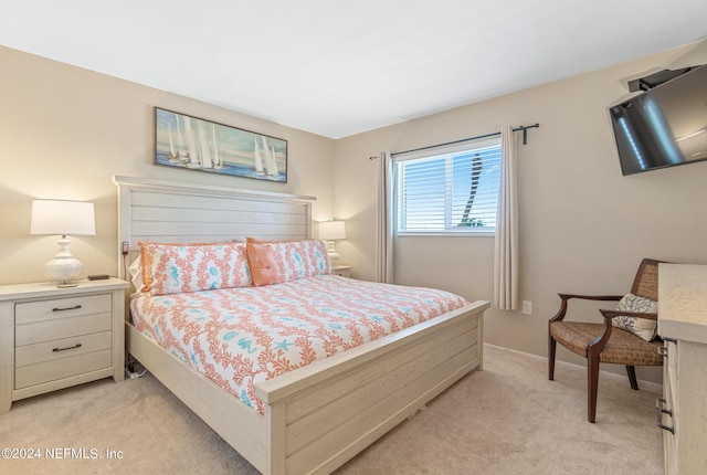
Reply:
[[17, 347], [14, 365], [25, 367], [112, 348], [110, 330]]

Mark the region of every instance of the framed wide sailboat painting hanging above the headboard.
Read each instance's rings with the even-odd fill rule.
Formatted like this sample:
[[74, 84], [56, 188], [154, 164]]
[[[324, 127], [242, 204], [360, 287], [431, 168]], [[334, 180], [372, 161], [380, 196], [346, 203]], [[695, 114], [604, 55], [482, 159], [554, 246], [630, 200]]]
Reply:
[[155, 107], [155, 163], [287, 182], [287, 140]]

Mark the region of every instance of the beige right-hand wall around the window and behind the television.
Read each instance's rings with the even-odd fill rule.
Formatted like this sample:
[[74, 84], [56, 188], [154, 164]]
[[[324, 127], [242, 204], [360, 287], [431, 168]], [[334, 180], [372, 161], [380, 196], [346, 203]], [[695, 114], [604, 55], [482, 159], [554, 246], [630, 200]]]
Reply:
[[[355, 276], [374, 277], [377, 163], [370, 156], [495, 131], [504, 123], [539, 123], [519, 158], [520, 298], [531, 300], [534, 312], [492, 308], [485, 334], [490, 344], [547, 355], [547, 321], [559, 292], [627, 292], [643, 257], [707, 263], [707, 162], [623, 177], [606, 112], [629, 96], [627, 78], [704, 63], [707, 43], [338, 140], [335, 211], [350, 236], [337, 247], [341, 260]], [[395, 282], [490, 300], [493, 252], [493, 238], [399, 238]], [[593, 308], [582, 307], [599, 321]], [[564, 349], [559, 357], [584, 362]], [[656, 369], [639, 376], [661, 380]]]

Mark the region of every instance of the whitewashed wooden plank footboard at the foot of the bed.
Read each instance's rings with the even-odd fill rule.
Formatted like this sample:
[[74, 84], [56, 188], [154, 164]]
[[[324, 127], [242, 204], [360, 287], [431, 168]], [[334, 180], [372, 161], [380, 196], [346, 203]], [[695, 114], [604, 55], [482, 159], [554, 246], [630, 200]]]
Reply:
[[486, 308], [474, 303], [256, 386], [267, 473], [330, 473], [481, 368]]

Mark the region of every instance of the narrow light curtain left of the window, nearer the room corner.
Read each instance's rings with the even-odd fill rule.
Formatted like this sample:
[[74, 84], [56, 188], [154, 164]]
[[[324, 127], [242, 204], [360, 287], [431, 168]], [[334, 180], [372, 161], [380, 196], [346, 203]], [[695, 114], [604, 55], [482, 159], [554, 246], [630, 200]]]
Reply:
[[378, 157], [378, 221], [376, 224], [376, 281], [393, 282], [393, 161], [390, 152]]

